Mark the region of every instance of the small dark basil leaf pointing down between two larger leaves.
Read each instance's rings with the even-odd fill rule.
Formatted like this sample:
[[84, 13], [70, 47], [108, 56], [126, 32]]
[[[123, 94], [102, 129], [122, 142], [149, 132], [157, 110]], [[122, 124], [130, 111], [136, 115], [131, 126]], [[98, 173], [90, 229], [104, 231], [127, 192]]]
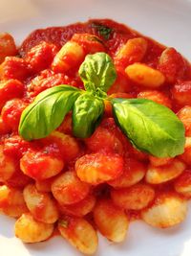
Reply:
[[73, 133], [78, 138], [90, 137], [99, 124], [104, 111], [104, 103], [91, 93], [78, 97], [73, 109]]

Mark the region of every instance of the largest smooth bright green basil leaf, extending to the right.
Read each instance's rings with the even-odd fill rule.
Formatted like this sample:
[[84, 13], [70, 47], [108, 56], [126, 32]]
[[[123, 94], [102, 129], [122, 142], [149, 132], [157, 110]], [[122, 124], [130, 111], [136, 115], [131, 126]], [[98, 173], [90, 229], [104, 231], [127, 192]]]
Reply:
[[158, 157], [183, 152], [184, 128], [173, 111], [145, 99], [112, 100], [116, 122], [140, 151]]

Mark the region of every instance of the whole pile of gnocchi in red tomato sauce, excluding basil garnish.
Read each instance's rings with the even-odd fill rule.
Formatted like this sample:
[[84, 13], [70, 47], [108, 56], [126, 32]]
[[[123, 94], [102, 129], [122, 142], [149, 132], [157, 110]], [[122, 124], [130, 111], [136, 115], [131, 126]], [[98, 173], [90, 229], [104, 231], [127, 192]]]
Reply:
[[[117, 128], [112, 107], [94, 134], [73, 135], [69, 112], [48, 137], [25, 141], [22, 111], [40, 92], [83, 88], [77, 70], [88, 54], [113, 58], [111, 98], [144, 98], [171, 108], [185, 128], [184, 152], [159, 158], [138, 151]], [[157, 228], [184, 221], [191, 197], [191, 66], [174, 48], [112, 20], [89, 20], [34, 31], [19, 48], [0, 34], [0, 213], [15, 218], [24, 243], [55, 230], [84, 254], [96, 252], [97, 231], [125, 241], [131, 221]], [[128, 252], [127, 252], [128, 253]]]

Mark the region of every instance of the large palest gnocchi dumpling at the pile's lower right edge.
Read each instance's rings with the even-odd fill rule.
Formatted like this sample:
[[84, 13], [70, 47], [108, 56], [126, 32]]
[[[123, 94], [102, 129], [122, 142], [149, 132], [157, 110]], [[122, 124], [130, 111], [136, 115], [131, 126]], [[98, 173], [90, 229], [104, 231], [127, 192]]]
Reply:
[[160, 194], [154, 204], [141, 212], [141, 218], [152, 226], [161, 228], [179, 224], [186, 217], [187, 203], [177, 194]]

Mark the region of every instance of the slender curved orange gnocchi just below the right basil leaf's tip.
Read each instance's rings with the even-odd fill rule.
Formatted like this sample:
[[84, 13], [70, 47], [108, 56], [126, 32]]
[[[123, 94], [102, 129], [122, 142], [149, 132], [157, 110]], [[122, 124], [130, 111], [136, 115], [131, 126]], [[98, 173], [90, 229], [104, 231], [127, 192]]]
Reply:
[[155, 167], [150, 165], [146, 173], [146, 181], [151, 184], [159, 184], [179, 176], [186, 166], [179, 159], [174, 159], [167, 165]]

